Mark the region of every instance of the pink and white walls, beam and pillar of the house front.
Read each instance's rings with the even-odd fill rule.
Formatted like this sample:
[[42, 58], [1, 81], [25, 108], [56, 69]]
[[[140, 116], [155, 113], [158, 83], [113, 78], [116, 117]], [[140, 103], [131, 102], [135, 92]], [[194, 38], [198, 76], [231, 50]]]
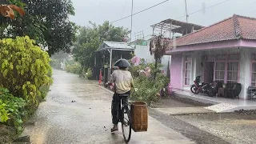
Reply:
[[254, 48], [241, 48], [241, 49], [224, 49], [224, 50], [205, 50], [194, 51], [183, 54], [173, 54], [170, 63], [170, 82], [174, 88], [182, 90], [190, 90], [189, 86], [183, 86], [183, 57], [185, 54], [192, 56], [192, 70], [191, 70], [191, 84], [198, 75], [202, 75], [201, 82], [204, 82], [204, 69], [201, 65], [203, 55], [218, 55], [218, 54], [232, 54], [240, 53], [239, 74], [238, 81], [242, 84], [242, 90], [239, 98], [247, 98], [247, 88], [250, 86], [250, 54], [256, 53]]

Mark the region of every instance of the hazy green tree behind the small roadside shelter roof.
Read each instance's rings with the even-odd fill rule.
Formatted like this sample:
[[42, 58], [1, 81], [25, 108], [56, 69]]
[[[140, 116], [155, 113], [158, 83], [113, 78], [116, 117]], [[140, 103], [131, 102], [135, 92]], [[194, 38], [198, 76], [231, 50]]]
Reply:
[[96, 25], [90, 22], [90, 26], [81, 27], [74, 45], [74, 58], [82, 65], [82, 69], [94, 67], [95, 51], [103, 41], [122, 42], [129, 34], [123, 27], [115, 27], [109, 22]]

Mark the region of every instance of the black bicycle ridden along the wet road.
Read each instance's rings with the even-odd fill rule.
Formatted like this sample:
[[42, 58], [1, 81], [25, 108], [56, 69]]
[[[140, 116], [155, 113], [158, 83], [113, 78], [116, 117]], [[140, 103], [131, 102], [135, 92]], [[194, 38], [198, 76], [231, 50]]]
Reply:
[[[118, 94], [118, 98], [121, 99], [120, 101], [121, 103], [119, 104], [119, 101], [116, 102], [116, 105], [118, 107], [118, 112], [117, 112], [118, 122], [122, 123], [122, 135], [126, 143], [130, 141], [130, 136], [131, 136], [130, 102], [127, 102], [126, 105], [122, 105], [123, 103], [122, 100], [125, 97], [128, 99], [129, 96], [130, 94]], [[121, 108], [121, 114], [120, 114], [121, 118], [119, 118], [120, 108]]]

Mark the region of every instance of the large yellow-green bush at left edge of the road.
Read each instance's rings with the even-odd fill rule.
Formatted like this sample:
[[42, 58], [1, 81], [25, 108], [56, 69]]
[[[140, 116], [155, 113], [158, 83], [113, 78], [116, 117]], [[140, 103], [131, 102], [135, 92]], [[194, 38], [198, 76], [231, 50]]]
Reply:
[[39, 88], [52, 83], [49, 55], [27, 36], [6, 38], [0, 40], [0, 66], [0, 86], [38, 106]]

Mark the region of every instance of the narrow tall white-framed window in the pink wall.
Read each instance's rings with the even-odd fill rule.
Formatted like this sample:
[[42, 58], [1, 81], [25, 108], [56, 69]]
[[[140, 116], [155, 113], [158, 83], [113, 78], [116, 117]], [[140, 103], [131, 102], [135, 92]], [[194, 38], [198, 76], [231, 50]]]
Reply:
[[185, 70], [185, 76], [184, 76], [184, 84], [185, 86], [189, 86], [191, 82], [191, 66], [192, 66], [192, 58], [188, 55], [185, 56], [185, 63], [184, 63], [184, 70]]

